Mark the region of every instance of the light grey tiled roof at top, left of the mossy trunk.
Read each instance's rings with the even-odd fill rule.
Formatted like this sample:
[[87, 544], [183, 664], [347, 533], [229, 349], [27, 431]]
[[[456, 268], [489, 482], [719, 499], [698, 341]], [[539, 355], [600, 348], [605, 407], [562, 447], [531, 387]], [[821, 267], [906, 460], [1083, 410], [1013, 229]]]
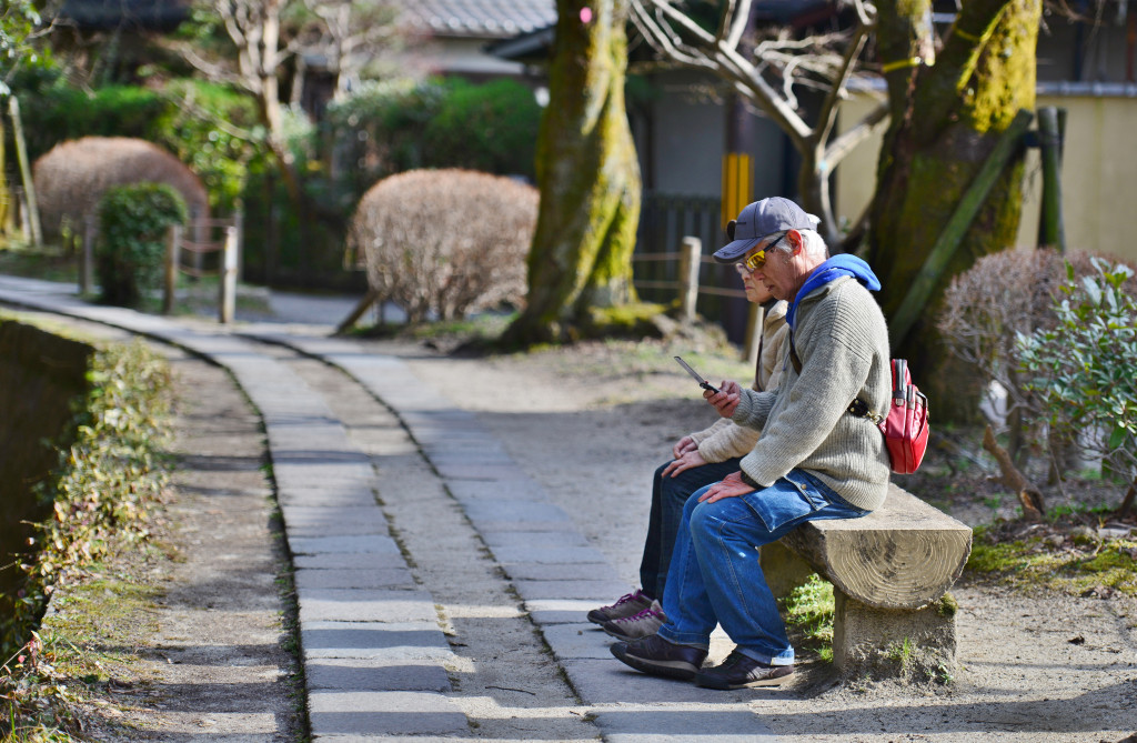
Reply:
[[407, 13], [439, 36], [507, 39], [556, 22], [555, 0], [404, 0]]

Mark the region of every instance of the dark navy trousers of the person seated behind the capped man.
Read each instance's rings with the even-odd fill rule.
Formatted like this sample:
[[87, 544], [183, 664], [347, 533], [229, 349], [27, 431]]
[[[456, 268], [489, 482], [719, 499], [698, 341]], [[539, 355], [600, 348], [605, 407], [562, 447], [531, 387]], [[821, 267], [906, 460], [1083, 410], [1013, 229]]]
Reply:
[[703, 467], [683, 470], [675, 477], [664, 476], [666, 464], [661, 464], [652, 480], [652, 512], [647, 521], [647, 539], [644, 542], [644, 558], [640, 561], [640, 586], [644, 593], [663, 602], [663, 588], [667, 584], [667, 567], [675, 547], [675, 534], [683, 518], [687, 498], [702, 487], [723, 479], [740, 469], [739, 457], [724, 462], [713, 462]]

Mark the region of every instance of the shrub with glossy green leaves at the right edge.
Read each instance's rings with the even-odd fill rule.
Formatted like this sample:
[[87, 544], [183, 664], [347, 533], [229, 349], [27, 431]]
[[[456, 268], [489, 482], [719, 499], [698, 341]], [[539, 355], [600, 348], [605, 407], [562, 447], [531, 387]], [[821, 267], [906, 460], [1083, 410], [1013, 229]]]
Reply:
[[1137, 300], [1124, 289], [1134, 271], [1092, 263], [1080, 282], [1067, 264], [1055, 327], [1020, 333], [1020, 370], [1053, 429], [1137, 486]]

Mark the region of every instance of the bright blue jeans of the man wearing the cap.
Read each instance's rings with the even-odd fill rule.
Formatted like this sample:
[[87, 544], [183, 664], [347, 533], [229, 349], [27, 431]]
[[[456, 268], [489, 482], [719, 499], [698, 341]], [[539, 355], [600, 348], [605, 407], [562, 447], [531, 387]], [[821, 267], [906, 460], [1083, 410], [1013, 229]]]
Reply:
[[788, 666], [794, 647], [762, 575], [758, 547], [806, 521], [855, 519], [868, 511], [849, 505], [803, 470], [716, 503], [699, 503], [705, 490], [696, 490], [683, 507], [663, 600], [669, 621], [659, 636], [705, 649], [717, 624], [744, 654]]

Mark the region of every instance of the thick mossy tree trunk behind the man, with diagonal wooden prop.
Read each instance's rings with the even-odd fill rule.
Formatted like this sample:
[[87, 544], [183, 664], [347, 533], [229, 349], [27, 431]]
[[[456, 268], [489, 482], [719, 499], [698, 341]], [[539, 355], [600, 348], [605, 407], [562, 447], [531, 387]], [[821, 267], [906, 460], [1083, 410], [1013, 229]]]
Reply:
[[[872, 205], [869, 262], [881, 278], [880, 302], [893, 319], [931, 246], [1021, 110], [1035, 107], [1035, 53], [1041, 0], [963, 3], [935, 57], [929, 0], [886, 0], [878, 55], [891, 119], [881, 148]], [[921, 61], [915, 61], [920, 58]], [[1014, 247], [1022, 203], [1020, 147], [963, 236], [928, 304], [893, 355], [910, 361], [932, 404], [966, 418], [966, 380], [945, 358], [935, 329], [944, 290], [978, 258]], [[961, 388], [962, 386], [962, 388]]]

